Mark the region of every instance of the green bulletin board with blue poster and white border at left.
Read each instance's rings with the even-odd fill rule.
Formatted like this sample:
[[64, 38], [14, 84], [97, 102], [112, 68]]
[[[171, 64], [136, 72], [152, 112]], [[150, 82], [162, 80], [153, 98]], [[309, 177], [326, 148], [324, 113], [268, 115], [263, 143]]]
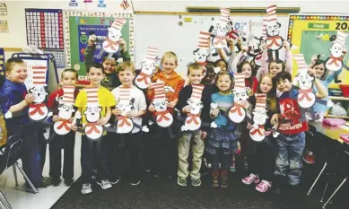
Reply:
[[[92, 13], [92, 12], [65, 12], [65, 62], [66, 67], [78, 70], [79, 75], [86, 74], [84, 51], [88, 37], [92, 32], [97, 36], [95, 55], [100, 52], [103, 40], [108, 35], [108, 28], [116, 17], [127, 22], [123, 25], [122, 39], [127, 43], [131, 60], [135, 53], [135, 17], [132, 13]], [[101, 60], [95, 59], [96, 62]], [[81, 77], [81, 76], [79, 76]]]

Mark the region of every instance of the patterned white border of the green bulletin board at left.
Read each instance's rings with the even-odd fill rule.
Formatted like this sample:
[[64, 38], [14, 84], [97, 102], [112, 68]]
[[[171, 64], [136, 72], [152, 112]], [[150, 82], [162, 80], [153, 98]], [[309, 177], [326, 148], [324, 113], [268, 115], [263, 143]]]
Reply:
[[[71, 26], [78, 27], [78, 25], [88, 25], [88, 24], [80, 24], [80, 22], [74, 22], [74, 24], [70, 25], [71, 20], [73, 18], [79, 19], [79, 18], [106, 18], [106, 20], [113, 20], [116, 17], [124, 18], [128, 20], [128, 43], [127, 48], [130, 53], [131, 61], [135, 59], [135, 14], [133, 13], [101, 13], [101, 12], [80, 12], [80, 11], [65, 11], [65, 66], [66, 68], [76, 68], [76, 64], [79, 66], [83, 65], [84, 63], [80, 62], [79, 60], [76, 60], [74, 57], [79, 57], [79, 51], [76, 50], [74, 47], [75, 45], [78, 45], [79, 37], [76, 34], [71, 33]], [[102, 24], [100, 24], [102, 25]], [[76, 29], [77, 30], [77, 29]], [[71, 35], [73, 37], [71, 37]], [[73, 49], [74, 47], [74, 49]], [[79, 71], [80, 71], [80, 67]], [[78, 70], [78, 69], [76, 69]], [[78, 71], [78, 72], [79, 72]], [[82, 78], [82, 72], [79, 72], [79, 79]], [[83, 74], [85, 75], [85, 74]]]

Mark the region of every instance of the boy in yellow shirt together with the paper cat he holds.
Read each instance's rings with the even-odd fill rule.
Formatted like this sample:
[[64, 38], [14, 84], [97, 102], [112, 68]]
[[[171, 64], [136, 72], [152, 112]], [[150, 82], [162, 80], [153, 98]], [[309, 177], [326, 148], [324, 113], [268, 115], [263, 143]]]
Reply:
[[[91, 84], [88, 88], [80, 91], [75, 100], [75, 107], [78, 108], [75, 118], [82, 116], [82, 124], [84, 126], [81, 149], [83, 194], [92, 193], [92, 158], [96, 158], [98, 162], [97, 184], [103, 189], [112, 187], [106, 174], [108, 144], [104, 137], [106, 133], [102, 132], [102, 126], [108, 123], [111, 108], [116, 105], [113, 94], [100, 86], [104, 76], [103, 65], [91, 65], [90, 69], [87, 69], [87, 76]], [[72, 129], [78, 129], [74, 122]], [[96, 154], [92, 152], [91, 140], [100, 140], [100, 150], [97, 150]]]

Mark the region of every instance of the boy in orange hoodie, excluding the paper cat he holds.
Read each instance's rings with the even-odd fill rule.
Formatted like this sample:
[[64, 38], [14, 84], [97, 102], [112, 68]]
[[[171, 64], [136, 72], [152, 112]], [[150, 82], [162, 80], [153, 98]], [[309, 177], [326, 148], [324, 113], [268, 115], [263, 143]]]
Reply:
[[[169, 101], [167, 105], [171, 114], [173, 114], [173, 109], [177, 105], [179, 100], [179, 91], [184, 86], [184, 79], [180, 77], [179, 74], [175, 72], [178, 66], [178, 58], [173, 52], [166, 52], [161, 58], [161, 65], [163, 67], [160, 74], [153, 76], [152, 82], [156, 82], [158, 79], [165, 83], [166, 98]], [[152, 84], [148, 88], [148, 99], [153, 100], [154, 90]], [[149, 106], [149, 111], [153, 112], [153, 117], [155, 117], [155, 109], [153, 104]], [[176, 168], [176, 140], [171, 139], [168, 131], [161, 127], [153, 128], [155, 135], [155, 141], [159, 145], [156, 150], [155, 155], [157, 156], [157, 166], [155, 168], [155, 178], [159, 178], [160, 175], [167, 175], [172, 178]]]

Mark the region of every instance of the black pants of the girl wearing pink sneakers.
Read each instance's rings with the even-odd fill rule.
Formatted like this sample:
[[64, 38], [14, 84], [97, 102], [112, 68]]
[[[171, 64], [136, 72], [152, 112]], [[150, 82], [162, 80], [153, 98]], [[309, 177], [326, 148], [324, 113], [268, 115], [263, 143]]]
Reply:
[[257, 151], [249, 154], [249, 172], [258, 175], [259, 179], [272, 181], [275, 170], [276, 144], [272, 141], [274, 139], [266, 140], [268, 141], [263, 143], [252, 141]]

